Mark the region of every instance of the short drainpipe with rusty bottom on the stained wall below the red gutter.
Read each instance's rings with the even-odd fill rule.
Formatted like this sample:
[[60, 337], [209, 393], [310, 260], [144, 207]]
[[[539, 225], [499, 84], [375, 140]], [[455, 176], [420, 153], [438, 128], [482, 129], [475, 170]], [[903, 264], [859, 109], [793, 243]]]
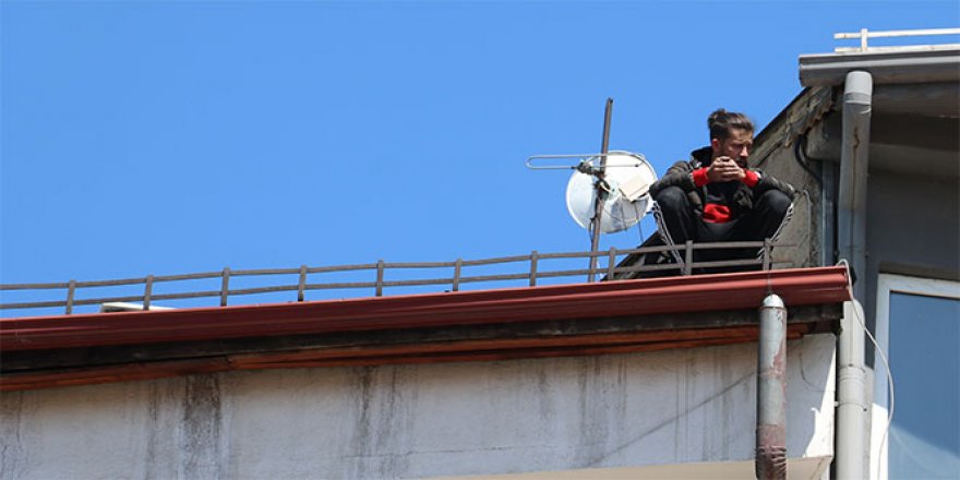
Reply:
[[787, 478], [787, 308], [770, 293], [760, 307], [757, 349], [757, 457], [760, 480]]

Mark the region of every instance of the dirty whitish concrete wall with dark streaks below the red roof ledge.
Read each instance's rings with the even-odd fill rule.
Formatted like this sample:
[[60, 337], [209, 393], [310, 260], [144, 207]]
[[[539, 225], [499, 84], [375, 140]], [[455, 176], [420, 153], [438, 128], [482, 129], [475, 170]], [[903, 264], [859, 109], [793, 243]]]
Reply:
[[[833, 344], [789, 344], [791, 458], [832, 454]], [[746, 344], [10, 393], [0, 477], [411, 478], [752, 460], [756, 355]]]

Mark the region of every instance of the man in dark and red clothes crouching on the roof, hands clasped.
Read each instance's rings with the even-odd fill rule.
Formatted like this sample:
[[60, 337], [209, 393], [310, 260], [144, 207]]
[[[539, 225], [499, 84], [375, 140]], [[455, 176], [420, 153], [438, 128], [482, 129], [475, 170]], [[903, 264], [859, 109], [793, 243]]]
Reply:
[[[749, 168], [754, 124], [745, 115], [721, 108], [710, 113], [707, 125], [710, 145], [692, 152], [689, 161], [674, 164], [650, 187], [663, 241], [776, 240], [792, 212], [793, 187]], [[696, 253], [695, 261], [744, 256], [734, 250]]]

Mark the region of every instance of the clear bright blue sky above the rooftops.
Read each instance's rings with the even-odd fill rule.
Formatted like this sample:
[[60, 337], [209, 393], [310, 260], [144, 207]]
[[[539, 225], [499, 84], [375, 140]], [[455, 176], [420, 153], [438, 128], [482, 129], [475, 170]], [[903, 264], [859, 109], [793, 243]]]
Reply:
[[[0, 281], [588, 250], [568, 173], [659, 173], [717, 107], [766, 125], [836, 32], [945, 2], [9, 1]], [[602, 247], [632, 248], [645, 220]]]

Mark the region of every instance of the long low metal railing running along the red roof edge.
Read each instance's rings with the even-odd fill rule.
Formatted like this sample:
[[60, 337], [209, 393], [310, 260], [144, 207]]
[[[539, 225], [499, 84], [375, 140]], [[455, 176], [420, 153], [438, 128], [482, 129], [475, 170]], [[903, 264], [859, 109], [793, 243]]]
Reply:
[[[314, 290], [335, 290], [335, 289], [372, 289], [375, 297], [382, 297], [384, 289], [393, 287], [422, 287], [422, 286], [440, 286], [446, 287], [445, 291], [458, 291], [464, 284], [490, 283], [490, 281], [520, 281], [515, 286], [537, 286], [538, 280], [560, 277], [574, 277], [592, 274], [607, 275], [607, 279], [615, 279], [617, 275], [632, 275], [641, 273], [652, 273], [661, 271], [676, 271], [680, 275], [692, 275], [693, 273], [704, 268], [729, 268], [729, 267], [759, 267], [770, 269], [775, 265], [792, 265], [793, 262], [783, 259], [773, 259], [773, 248], [795, 247], [785, 243], [772, 243], [770, 241], [753, 241], [753, 242], [717, 242], [717, 243], [693, 243], [687, 242], [684, 245], [668, 247], [641, 247], [629, 250], [619, 250], [611, 248], [607, 251], [599, 252], [565, 252], [565, 253], [540, 253], [537, 251], [527, 255], [501, 256], [481, 260], [463, 260], [457, 259], [453, 262], [420, 262], [420, 263], [393, 263], [379, 261], [376, 263], [359, 264], [359, 265], [337, 265], [337, 266], [320, 266], [311, 267], [302, 265], [293, 268], [261, 268], [261, 269], [238, 269], [233, 271], [229, 267], [219, 272], [181, 274], [181, 275], [147, 275], [137, 278], [111, 279], [111, 280], [91, 280], [77, 281], [70, 280], [65, 283], [52, 284], [8, 284], [0, 285], [0, 292], [14, 290], [65, 290], [60, 292], [58, 300], [43, 301], [25, 301], [0, 303], [0, 310], [12, 309], [45, 309], [45, 308], [64, 308], [64, 314], [73, 313], [74, 307], [77, 305], [96, 305], [112, 302], [142, 302], [137, 305], [143, 310], [149, 310], [151, 304], [155, 301], [163, 300], [184, 300], [196, 298], [217, 298], [220, 307], [226, 307], [228, 301], [241, 296], [257, 293], [276, 293], [276, 292], [296, 292], [296, 301], [305, 300], [305, 293]], [[694, 262], [694, 252], [698, 250], [723, 250], [723, 249], [757, 249], [759, 254], [756, 257], [734, 259], [710, 262]], [[659, 264], [640, 264], [617, 266], [617, 257], [632, 254], [660, 254], [662, 252], [677, 252], [683, 259], [681, 263], [659, 263]], [[544, 261], [559, 259], [589, 259], [600, 257], [607, 259], [607, 265], [597, 268], [563, 268], [563, 269], [544, 269]], [[493, 274], [493, 275], [467, 275], [465, 271], [473, 267], [485, 265], [518, 264], [526, 263], [524, 273], [512, 274]], [[439, 268], [452, 269], [452, 275], [433, 278], [405, 278], [397, 280], [387, 280], [387, 271], [403, 271], [411, 268], [428, 268], [431, 271]], [[368, 281], [333, 281], [333, 283], [310, 283], [310, 276], [329, 273], [344, 272], [369, 272], [373, 279]], [[661, 272], [662, 274], [662, 272]], [[297, 281], [285, 285], [271, 285], [250, 288], [231, 288], [230, 283], [238, 277], [263, 277], [273, 275], [296, 276]], [[197, 290], [197, 291], [180, 291], [172, 293], [156, 293], [155, 286], [164, 283], [184, 283], [189, 280], [214, 279], [219, 280], [219, 289]], [[99, 298], [77, 298], [77, 292], [82, 289], [101, 288], [101, 287], [137, 287], [142, 286], [142, 292], [136, 295], [122, 295]], [[139, 289], [139, 288], [137, 288]], [[292, 301], [292, 299], [288, 300]]]

